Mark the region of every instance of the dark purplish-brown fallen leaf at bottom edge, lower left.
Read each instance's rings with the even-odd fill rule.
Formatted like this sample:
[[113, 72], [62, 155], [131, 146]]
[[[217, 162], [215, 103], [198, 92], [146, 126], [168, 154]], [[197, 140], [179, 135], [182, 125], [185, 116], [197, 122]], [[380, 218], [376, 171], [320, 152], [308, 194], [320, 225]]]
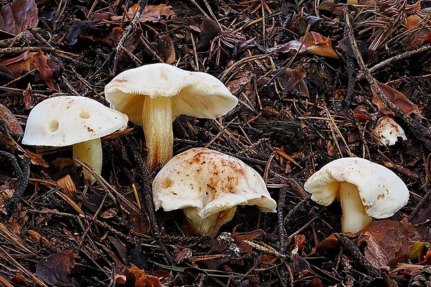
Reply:
[[75, 254], [65, 250], [58, 254], [44, 257], [36, 266], [36, 274], [49, 285], [77, 286], [78, 281], [70, 277], [75, 265]]

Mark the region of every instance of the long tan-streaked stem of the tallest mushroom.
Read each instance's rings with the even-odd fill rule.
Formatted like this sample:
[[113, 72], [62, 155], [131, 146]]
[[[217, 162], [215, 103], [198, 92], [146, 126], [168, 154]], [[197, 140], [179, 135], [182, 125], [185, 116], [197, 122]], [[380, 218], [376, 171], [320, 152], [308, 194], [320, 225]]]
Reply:
[[165, 165], [172, 158], [174, 133], [172, 131], [172, 101], [168, 97], [145, 97], [142, 120], [145, 145], [148, 149], [147, 166], [149, 171], [158, 163]]

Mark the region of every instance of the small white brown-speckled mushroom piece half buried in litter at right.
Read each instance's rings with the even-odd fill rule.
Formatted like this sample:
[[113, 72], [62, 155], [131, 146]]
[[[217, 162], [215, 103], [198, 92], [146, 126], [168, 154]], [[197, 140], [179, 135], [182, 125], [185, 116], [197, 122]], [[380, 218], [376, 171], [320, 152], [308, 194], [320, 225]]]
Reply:
[[395, 145], [398, 138], [407, 140], [407, 136], [405, 136], [402, 127], [393, 120], [392, 117], [387, 115], [377, 120], [374, 131], [377, 133], [377, 136], [380, 136], [380, 142], [382, 142], [383, 145]]

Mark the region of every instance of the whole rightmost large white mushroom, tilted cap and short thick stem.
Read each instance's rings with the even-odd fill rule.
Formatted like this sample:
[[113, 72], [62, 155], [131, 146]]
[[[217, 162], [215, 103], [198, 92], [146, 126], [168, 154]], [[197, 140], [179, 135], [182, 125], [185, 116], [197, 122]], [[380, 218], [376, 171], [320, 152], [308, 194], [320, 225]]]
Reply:
[[327, 206], [339, 198], [341, 231], [356, 233], [373, 218], [389, 218], [409, 200], [405, 183], [391, 170], [364, 158], [339, 158], [304, 184], [311, 199]]

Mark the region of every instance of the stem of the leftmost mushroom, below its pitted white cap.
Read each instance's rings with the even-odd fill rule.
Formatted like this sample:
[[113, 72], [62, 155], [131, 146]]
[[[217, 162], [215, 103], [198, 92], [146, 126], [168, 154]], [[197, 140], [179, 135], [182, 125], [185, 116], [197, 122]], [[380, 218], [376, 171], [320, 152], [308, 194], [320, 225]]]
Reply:
[[[78, 158], [80, 161], [85, 161], [90, 165], [95, 171], [100, 174], [101, 164], [103, 162], [103, 154], [101, 151], [101, 140], [100, 138], [95, 138], [94, 140], [87, 140], [86, 142], [78, 142], [72, 146], [73, 159], [75, 165], [75, 159]], [[84, 179], [92, 183], [95, 183], [96, 179], [93, 177], [88, 170], [83, 169]]]

